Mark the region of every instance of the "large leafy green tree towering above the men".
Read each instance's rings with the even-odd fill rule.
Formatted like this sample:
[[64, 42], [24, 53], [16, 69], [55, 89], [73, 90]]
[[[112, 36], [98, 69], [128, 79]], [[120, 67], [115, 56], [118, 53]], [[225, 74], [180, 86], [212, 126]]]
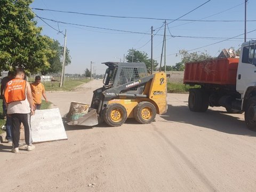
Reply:
[[0, 1], [0, 70], [19, 66], [38, 73], [50, 67], [52, 40], [36, 27], [30, 3], [32, 0]]

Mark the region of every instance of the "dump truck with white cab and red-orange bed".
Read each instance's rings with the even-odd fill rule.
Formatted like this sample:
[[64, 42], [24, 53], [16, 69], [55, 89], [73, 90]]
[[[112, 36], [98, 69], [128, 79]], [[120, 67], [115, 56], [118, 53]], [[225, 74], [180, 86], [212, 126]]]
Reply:
[[188, 107], [205, 112], [209, 106], [243, 113], [250, 130], [256, 131], [256, 42], [245, 42], [239, 58], [220, 58], [185, 64], [183, 83], [190, 89]]

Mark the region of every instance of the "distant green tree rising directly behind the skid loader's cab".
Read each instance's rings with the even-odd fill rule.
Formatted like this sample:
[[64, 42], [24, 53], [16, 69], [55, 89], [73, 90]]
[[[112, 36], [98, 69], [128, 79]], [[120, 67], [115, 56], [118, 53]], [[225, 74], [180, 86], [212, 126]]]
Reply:
[[[141, 51], [135, 50], [128, 50], [128, 54], [126, 55], [125, 59], [127, 62], [143, 62], [146, 64], [147, 70], [151, 70], [151, 59], [148, 58], [148, 54]], [[156, 60], [153, 60], [153, 70], [156, 70], [158, 63]]]

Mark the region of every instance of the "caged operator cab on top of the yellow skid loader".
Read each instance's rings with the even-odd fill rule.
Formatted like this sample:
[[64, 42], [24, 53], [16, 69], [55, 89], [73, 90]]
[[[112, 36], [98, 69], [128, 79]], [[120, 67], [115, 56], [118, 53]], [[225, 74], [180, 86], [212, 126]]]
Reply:
[[106, 87], [116, 87], [148, 76], [145, 63], [105, 62], [108, 66], [103, 84]]

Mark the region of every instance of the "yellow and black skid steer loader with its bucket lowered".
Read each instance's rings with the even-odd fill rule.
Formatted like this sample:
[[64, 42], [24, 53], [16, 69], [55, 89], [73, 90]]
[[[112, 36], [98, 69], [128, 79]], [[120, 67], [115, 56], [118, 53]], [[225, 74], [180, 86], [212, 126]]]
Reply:
[[167, 110], [166, 74], [148, 75], [145, 63], [105, 62], [108, 66], [103, 86], [93, 91], [87, 114], [70, 120], [69, 125], [93, 126], [106, 122], [120, 126], [127, 118], [139, 123], [154, 121], [156, 114]]

